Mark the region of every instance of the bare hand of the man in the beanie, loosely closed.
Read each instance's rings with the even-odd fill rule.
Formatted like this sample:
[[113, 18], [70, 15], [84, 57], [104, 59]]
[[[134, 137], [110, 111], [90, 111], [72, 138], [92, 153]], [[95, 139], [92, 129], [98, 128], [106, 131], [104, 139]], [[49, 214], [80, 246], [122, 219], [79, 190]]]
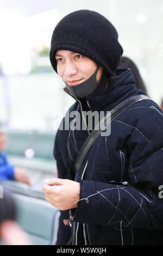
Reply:
[[80, 184], [77, 181], [58, 178], [45, 180], [42, 190], [46, 200], [62, 211], [77, 206], [80, 194]]

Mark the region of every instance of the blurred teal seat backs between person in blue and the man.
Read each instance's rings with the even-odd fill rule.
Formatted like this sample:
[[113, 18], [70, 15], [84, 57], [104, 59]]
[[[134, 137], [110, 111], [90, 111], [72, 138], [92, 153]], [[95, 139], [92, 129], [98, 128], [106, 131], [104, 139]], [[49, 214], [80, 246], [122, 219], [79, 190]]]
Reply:
[[[40, 173], [46, 172], [49, 176], [56, 175], [57, 167], [53, 157], [55, 132], [8, 130], [5, 133], [8, 137], [5, 151], [10, 164]], [[33, 157], [27, 157], [27, 149], [33, 150]]]

